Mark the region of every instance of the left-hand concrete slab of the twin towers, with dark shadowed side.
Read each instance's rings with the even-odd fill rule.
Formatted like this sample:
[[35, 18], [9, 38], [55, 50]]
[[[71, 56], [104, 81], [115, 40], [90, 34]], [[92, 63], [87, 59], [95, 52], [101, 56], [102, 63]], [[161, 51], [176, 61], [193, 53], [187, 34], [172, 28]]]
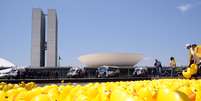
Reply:
[[31, 67], [45, 66], [45, 15], [40, 8], [32, 11]]

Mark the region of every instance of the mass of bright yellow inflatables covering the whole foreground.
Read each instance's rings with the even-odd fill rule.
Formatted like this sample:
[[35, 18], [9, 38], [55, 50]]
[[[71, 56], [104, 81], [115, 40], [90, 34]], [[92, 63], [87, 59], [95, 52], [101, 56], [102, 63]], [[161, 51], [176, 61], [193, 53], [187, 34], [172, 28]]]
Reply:
[[0, 83], [0, 101], [201, 101], [201, 80], [159, 79], [105, 83]]

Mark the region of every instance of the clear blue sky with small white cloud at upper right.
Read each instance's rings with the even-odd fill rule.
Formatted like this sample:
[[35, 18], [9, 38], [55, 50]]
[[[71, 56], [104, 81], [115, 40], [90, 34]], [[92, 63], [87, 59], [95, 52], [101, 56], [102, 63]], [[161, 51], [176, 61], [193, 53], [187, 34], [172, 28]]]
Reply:
[[187, 43], [201, 43], [201, 0], [1, 0], [0, 57], [30, 65], [32, 8], [57, 10], [61, 65], [97, 52], [137, 52], [139, 65], [187, 64]]

